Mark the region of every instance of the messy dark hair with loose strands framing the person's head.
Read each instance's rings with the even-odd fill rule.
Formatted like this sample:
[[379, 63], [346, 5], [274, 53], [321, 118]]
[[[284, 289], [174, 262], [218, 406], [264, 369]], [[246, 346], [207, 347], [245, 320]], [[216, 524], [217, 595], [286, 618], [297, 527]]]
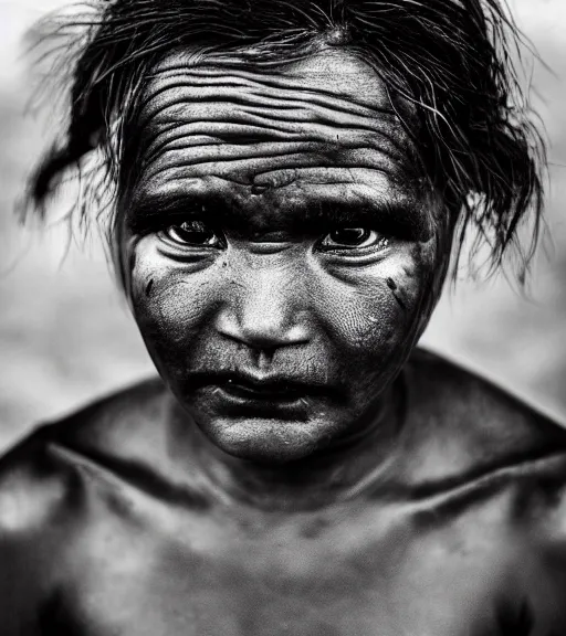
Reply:
[[[493, 271], [512, 246], [526, 272], [542, 222], [546, 149], [512, 61], [524, 47], [521, 35], [497, 0], [92, 0], [85, 7], [51, 21], [41, 40], [72, 81], [62, 138], [29, 182], [28, 204], [41, 215], [72, 168], [83, 186], [81, 219], [108, 205], [109, 186], [117, 194], [125, 126], [165, 54], [187, 45], [248, 50], [251, 63], [269, 63], [324, 39], [359, 54], [390, 95], [415, 104], [422, 166], [459, 221], [457, 258], [474, 229], [473, 255], [486, 243]], [[69, 65], [57, 52], [71, 41]], [[533, 223], [526, 247], [517, 240], [524, 219]]]

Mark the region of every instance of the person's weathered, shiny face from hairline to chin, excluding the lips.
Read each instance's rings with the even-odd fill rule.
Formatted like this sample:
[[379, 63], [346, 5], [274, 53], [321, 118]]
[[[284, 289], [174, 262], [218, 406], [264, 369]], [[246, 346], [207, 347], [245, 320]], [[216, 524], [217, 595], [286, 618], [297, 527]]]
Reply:
[[[376, 426], [446, 261], [406, 124], [345, 51], [153, 74], [123, 267], [161, 377], [221, 449], [298, 459]], [[227, 373], [305, 391], [230, 409], [203, 384]]]

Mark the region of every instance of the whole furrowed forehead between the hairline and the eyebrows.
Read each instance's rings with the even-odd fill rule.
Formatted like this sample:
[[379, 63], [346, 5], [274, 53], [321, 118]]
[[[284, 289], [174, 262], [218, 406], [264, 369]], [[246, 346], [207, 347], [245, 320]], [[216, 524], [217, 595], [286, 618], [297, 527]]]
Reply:
[[406, 126], [376, 72], [345, 50], [277, 67], [178, 52], [154, 70], [140, 106], [143, 194], [415, 195]]

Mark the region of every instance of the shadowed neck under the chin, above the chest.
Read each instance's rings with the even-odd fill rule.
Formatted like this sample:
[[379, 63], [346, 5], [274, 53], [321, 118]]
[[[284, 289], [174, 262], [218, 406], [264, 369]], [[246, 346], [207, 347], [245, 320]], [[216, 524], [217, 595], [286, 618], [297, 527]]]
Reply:
[[[390, 476], [401, 431], [399, 381], [382, 395], [374, 415], [355, 432], [303, 459], [283, 464], [242, 459], [212, 444], [187, 415], [175, 409], [171, 452], [199, 471], [227, 504], [265, 510], [310, 510], [363, 495]], [[182, 427], [182, 434], [180, 428]]]

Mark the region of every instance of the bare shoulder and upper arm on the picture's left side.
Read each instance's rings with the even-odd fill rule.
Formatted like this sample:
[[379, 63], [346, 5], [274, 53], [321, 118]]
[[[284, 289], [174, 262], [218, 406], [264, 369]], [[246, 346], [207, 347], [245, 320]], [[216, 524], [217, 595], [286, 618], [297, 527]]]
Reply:
[[166, 394], [159, 381], [143, 382], [39, 426], [0, 459], [2, 634], [51, 634], [43, 623], [57, 582], [88, 570], [81, 555], [97, 554], [104, 531], [127, 527], [132, 496], [112, 474], [112, 458], [120, 465], [140, 454], [129, 441], [151, 444], [149, 424]]

